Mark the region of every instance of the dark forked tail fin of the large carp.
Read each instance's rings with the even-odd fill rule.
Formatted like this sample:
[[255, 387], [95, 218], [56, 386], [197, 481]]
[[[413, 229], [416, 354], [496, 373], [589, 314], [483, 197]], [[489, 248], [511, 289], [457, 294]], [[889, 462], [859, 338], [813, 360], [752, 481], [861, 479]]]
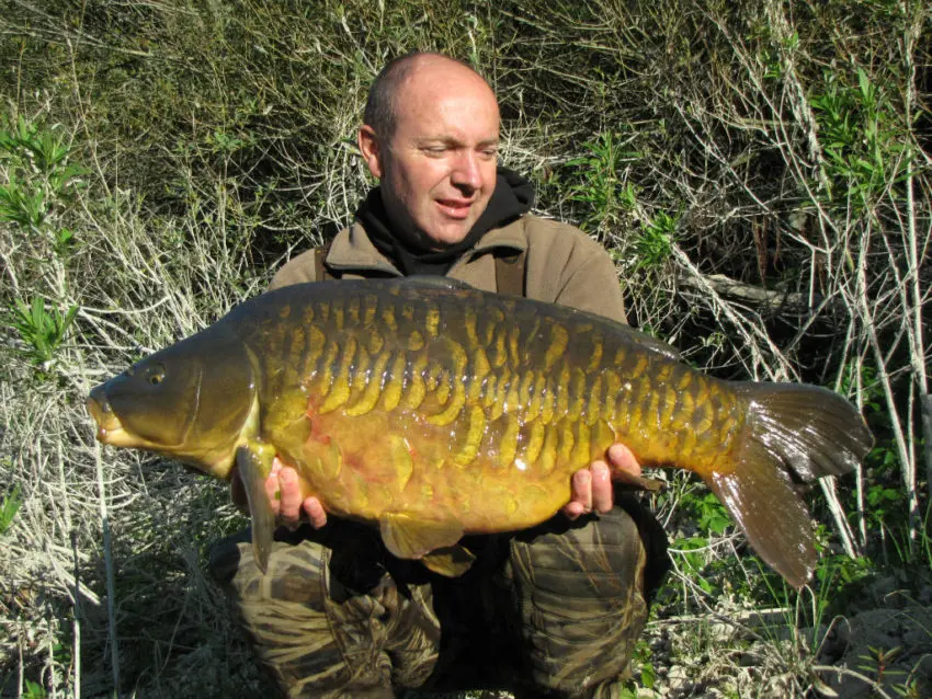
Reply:
[[794, 587], [816, 568], [809, 512], [795, 483], [851, 471], [873, 436], [855, 408], [816, 386], [735, 383], [748, 403], [727, 472], [704, 475], [754, 550]]

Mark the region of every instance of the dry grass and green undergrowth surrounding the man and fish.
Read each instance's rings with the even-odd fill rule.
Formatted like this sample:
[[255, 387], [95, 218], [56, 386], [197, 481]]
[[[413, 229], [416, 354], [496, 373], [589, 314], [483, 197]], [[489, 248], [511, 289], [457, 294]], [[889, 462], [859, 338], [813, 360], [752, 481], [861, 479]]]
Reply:
[[[205, 577], [243, 525], [223, 485], [98, 449], [83, 398], [349, 220], [365, 89], [413, 48], [490, 77], [505, 163], [610, 249], [633, 322], [723, 378], [840, 386], [878, 437], [810, 497], [803, 593], [663, 477], [677, 571], [630, 696], [923, 690], [928, 7], [80, 7], [15, 3], [0, 43], [0, 696], [269, 694]], [[878, 609], [902, 633], [859, 646]]]

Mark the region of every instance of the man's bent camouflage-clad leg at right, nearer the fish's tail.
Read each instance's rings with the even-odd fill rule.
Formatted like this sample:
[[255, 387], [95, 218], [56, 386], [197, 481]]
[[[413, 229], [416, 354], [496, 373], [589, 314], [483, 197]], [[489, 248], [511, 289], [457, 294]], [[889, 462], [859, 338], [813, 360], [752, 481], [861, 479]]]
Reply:
[[633, 501], [513, 539], [505, 578], [534, 683], [576, 695], [622, 676], [667, 566], [662, 529]]

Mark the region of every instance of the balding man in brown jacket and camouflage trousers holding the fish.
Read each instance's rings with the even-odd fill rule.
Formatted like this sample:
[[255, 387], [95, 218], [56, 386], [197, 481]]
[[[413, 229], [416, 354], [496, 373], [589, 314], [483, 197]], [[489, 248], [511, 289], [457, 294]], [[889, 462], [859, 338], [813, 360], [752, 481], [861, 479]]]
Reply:
[[[514, 286], [511, 265], [526, 296], [624, 322], [605, 251], [528, 215], [530, 183], [497, 168], [498, 145], [498, 103], [475, 71], [434, 54], [393, 61], [359, 131], [379, 186], [326, 255], [299, 255], [272, 288], [440, 274], [501, 291], [504, 279]], [[623, 445], [607, 458], [616, 478], [637, 482]], [[395, 559], [372, 528], [328, 523], [316, 499], [300, 502], [291, 468], [276, 462], [266, 488], [293, 529], [280, 530], [269, 574], [258, 571], [248, 536], [220, 542], [212, 569], [260, 661], [293, 697], [393, 697], [425, 683], [613, 696], [667, 564], [662, 531], [633, 500], [613, 496], [603, 461], [572, 477], [571, 502], [552, 522], [471, 537], [477, 561], [455, 580]], [[235, 497], [242, 500], [236, 486]], [[302, 515], [308, 524], [295, 529]]]

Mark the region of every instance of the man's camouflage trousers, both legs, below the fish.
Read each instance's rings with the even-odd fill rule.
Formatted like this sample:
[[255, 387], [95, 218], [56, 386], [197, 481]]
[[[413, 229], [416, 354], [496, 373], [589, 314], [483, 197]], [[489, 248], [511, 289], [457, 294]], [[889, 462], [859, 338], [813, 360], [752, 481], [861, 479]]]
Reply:
[[391, 557], [372, 527], [332, 518], [277, 532], [265, 575], [248, 531], [214, 546], [211, 570], [287, 697], [480, 687], [613, 697], [668, 566], [659, 525], [618, 501], [577, 523], [467, 538], [478, 558], [455, 580]]

